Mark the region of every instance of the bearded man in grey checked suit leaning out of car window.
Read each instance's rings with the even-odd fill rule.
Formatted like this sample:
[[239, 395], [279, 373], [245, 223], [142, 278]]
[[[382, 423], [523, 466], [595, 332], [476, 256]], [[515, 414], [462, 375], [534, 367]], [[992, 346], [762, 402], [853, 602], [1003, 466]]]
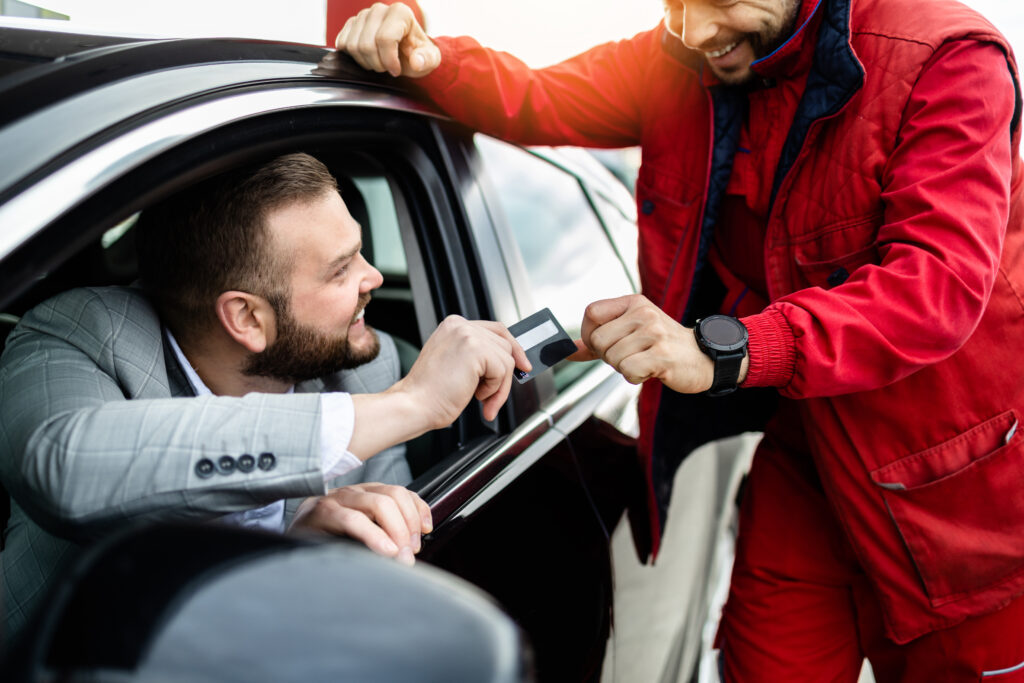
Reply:
[[362, 319], [381, 274], [307, 155], [200, 183], [134, 229], [141, 289], [54, 297], [0, 358], [8, 635], [80, 543], [127, 523], [344, 535], [411, 564], [431, 530], [416, 494], [326, 482], [374, 454], [408, 482], [396, 444], [473, 396], [496, 417], [529, 367], [508, 330], [450, 316], [399, 379], [393, 341]]

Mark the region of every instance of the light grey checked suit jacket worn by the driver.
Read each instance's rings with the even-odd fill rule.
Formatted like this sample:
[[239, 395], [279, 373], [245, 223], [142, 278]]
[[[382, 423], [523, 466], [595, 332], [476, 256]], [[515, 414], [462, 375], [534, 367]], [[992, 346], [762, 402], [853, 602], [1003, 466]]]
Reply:
[[[377, 359], [295, 394], [196, 397], [137, 290], [72, 290], [29, 311], [0, 357], [0, 480], [12, 499], [0, 553], [8, 635], [78, 542], [126, 523], [207, 520], [281, 499], [295, 499], [293, 511], [324, 494], [316, 392], [395, 382], [394, 343], [380, 337]], [[259, 466], [198, 467], [244, 454]], [[396, 446], [331, 483], [410, 479]]]

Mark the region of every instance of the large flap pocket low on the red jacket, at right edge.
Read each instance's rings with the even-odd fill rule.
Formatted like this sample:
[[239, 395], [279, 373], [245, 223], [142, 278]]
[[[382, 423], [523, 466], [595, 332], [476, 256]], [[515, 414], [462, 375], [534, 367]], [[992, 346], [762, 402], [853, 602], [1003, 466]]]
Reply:
[[1024, 439], [1007, 411], [871, 472], [933, 607], [1024, 571]]

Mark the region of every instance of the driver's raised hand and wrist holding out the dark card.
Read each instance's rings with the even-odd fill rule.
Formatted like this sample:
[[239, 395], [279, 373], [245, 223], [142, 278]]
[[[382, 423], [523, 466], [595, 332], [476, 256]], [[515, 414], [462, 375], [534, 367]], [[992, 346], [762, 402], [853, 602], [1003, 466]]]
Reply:
[[409, 374], [387, 391], [353, 394], [348, 450], [366, 460], [384, 449], [452, 424], [474, 396], [494, 420], [512, 388], [512, 370], [529, 371], [526, 353], [501, 323], [450, 315], [420, 350]]

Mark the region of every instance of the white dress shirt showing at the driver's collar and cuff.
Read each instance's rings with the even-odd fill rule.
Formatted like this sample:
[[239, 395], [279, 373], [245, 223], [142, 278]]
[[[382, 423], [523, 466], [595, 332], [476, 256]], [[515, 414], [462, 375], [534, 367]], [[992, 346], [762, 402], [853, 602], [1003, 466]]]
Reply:
[[[174, 349], [174, 355], [178, 359], [178, 365], [184, 371], [188, 383], [197, 396], [212, 396], [213, 392], [206, 386], [200, 378], [196, 369], [188, 362], [178, 340], [174, 338], [171, 331], [164, 328], [167, 334], [167, 341]], [[288, 393], [293, 393], [295, 387], [289, 387]], [[340, 476], [350, 470], [362, 465], [362, 461], [348, 452], [348, 442], [352, 440], [352, 429], [355, 425], [355, 409], [352, 405], [352, 396], [342, 392], [322, 393], [321, 395], [321, 469], [324, 472], [324, 481]], [[243, 510], [232, 512], [220, 518], [221, 522], [237, 524], [239, 526], [249, 526], [252, 528], [262, 528], [270, 531], [284, 532], [285, 530], [285, 501], [275, 501], [270, 505], [256, 508], [255, 510]]]

